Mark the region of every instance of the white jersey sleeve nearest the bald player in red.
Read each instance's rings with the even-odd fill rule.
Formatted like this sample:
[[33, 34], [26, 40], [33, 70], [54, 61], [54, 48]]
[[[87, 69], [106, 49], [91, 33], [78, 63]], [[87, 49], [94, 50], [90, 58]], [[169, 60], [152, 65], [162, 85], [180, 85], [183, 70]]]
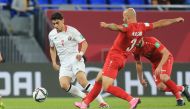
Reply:
[[78, 43], [81, 43], [85, 40], [83, 35], [75, 28], [73, 28], [73, 37]]

